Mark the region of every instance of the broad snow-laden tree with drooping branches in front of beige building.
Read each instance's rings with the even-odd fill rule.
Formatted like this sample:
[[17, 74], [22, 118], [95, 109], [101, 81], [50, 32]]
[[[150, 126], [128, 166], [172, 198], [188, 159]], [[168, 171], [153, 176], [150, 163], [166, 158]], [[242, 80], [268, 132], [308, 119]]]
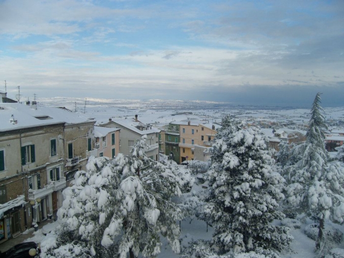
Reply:
[[180, 196], [178, 178], [167, 166], [147, 158], [146, 136], [132, 156], [118, 154], [111, 162], [91, 157], [75, 185], [63, 191], [57, 236], [41, 243], [41, 257], [154, 257], [165, 236], [180, 252], [182, 211], [171, 201]]

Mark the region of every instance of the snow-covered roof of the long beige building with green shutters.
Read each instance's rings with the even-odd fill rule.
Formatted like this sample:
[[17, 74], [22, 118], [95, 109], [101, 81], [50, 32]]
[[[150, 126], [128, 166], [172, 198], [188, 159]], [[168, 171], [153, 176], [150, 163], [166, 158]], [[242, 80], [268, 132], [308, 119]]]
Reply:
[[86, 117], [50, 107], [32, 108], [20, 103], [0, 103], [0, 131], [65, 122], [75, 124], [89, 121]]

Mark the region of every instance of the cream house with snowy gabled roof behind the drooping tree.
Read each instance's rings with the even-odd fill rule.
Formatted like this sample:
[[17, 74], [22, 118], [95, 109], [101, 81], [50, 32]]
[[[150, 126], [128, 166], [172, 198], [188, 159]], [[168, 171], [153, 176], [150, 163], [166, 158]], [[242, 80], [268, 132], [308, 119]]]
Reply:
[[138, 120], [138, 115], [132, 119], [110, 120], [100, 126], [112, 127], [120, 129], [119, 136], [119, 152], [124, 155], [131, 155], [131, 150], [134, 144], [141, 140], [143, 135], [147, 135], [146, 143], [149, 148], [145, 152], [147, 157], [158, 161], [159, 160], [159, 133], [160, 130], [149, 125], [144, 124]]

